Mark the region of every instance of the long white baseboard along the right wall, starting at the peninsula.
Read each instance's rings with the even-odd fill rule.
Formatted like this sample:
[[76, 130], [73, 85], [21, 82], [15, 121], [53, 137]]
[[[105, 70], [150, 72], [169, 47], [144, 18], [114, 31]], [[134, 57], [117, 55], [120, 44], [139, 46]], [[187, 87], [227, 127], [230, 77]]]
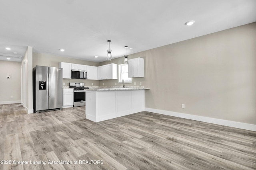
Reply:
[[216, 118], [204, 117], [204, 116], [198, 116], [198, 115], [190, 115], [190, 114], [178, 113], [178, 112], [174, 112], [174, 111], [152, 109], [152, 108], [147, 108], [147, 107], [145, 107], [145, 111], [159, 113], [159, 114], [163, 114], [163, 115], [174, 116], [174, 117], [181, 117], [181, 118], [191, 119], [191, 120], [196, 120], [196, 121], [203, 121], [203, 122], [207, 122], [207, 123], [214, 123], [217, 125], [236, 127], [239, 129], [246, 129], [246, 130], [250, 130], [250, 131], [256, 131], [256, 125], [254, 125], [254, 124], [241, 123], [241, 122], [229, 121], [229, 120], [223, 120], [223, 119], [216, 119]]

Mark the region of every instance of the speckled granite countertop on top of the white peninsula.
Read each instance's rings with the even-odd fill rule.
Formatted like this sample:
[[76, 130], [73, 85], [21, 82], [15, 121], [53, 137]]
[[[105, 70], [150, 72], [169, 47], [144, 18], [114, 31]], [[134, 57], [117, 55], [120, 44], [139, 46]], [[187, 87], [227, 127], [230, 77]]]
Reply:
[[150, 88], [145, 88], [144, 86], [110, 86], [110, 87], [90, 87], [86, 91], [114, 91], [114, 90], [149, 90]]

